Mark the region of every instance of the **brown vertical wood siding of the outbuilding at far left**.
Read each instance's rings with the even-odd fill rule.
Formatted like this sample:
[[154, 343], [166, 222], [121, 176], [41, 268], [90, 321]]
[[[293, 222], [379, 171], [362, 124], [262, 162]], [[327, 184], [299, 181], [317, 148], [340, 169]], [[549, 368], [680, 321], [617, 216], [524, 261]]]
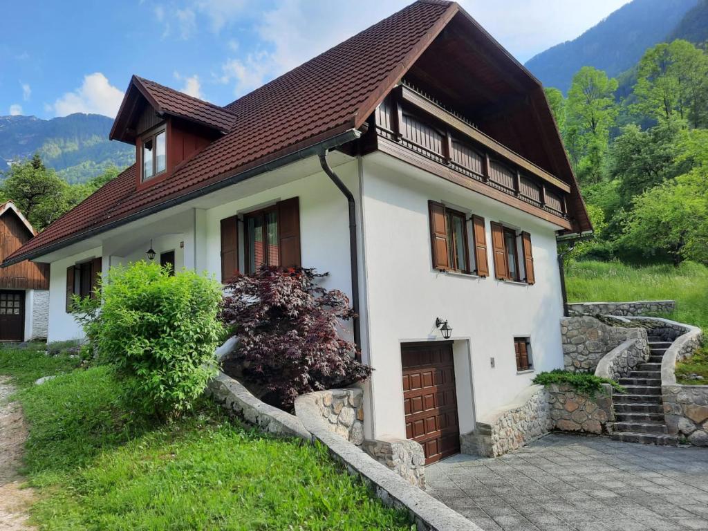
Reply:
[[[0, 216], [0, 261], [32, 238], [13, 210]], [[24, 261], [0, 268], [0, 288], [11, 290], [48, 290], [49, 264]]]

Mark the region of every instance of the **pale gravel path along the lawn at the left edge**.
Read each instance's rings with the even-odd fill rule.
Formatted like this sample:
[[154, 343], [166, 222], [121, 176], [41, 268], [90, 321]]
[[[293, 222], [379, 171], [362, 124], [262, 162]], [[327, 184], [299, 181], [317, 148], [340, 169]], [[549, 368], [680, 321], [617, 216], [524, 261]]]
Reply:
[[27, 523], [27, 508], [34, 499], [31, 489], [20, 489], [18, 474], [27, 428], [20, 405], [8, 401], [14, 388], [0, 377], [0, 531], [33, 530]]

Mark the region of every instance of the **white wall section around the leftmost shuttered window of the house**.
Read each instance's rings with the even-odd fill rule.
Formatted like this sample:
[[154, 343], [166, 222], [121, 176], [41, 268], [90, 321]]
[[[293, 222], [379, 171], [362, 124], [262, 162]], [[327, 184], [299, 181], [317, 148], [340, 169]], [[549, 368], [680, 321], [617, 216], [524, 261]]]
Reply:
[[67, 268], [101, 255], [101, 247], [62, 258], [50, 265], [49, 329], [47, 341], [67, 341], [84, 337], [81, 326], [72, 314], [67, 314]]

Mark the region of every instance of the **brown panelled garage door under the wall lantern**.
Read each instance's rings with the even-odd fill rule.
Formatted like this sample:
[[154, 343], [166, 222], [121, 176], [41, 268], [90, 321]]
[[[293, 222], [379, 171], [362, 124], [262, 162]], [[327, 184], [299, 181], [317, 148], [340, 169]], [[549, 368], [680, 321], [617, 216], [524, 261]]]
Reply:
[[426, 452], [426, 464], [459, 453], [452, 343], [401, 347], [406, 438]]

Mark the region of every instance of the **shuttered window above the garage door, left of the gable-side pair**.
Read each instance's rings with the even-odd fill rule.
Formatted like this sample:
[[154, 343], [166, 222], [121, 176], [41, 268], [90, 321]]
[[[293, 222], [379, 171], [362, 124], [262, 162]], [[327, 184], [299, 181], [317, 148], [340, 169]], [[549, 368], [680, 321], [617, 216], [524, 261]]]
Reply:
[[[486, 234], [484, 218], [429, 201], [430, 244], [433, 254], [433, 269], [475, 273], [481, 277], [489, 274], [486, 258]], [[472, 249], [469, 249], [468, 222], [472, 221]]]

